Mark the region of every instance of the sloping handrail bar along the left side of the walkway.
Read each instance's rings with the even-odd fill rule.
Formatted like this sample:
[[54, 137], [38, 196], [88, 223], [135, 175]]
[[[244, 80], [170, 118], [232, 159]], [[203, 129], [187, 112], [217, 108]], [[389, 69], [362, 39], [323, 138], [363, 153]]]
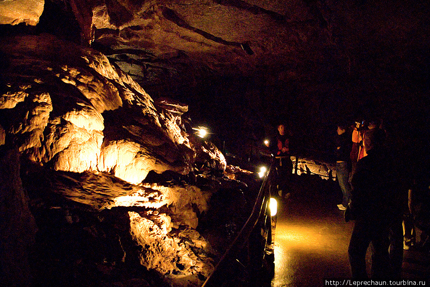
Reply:
[[262, 217], [262, 212], [267, 209], [267, 204], [270, 200], [270, 194], [268, 193], [269, 188], [266, 188], [266, 185], [269, 182], [269, 176], [271, 174], [274, 163], [275, 161], [272, 160], [272, 164], [263, 179], [263, 183], [260, 187], [259, 194], [257, 195], [257, 198], [255, 200], [255, 204], [252, 208], [251, 215], [248, 217], [245, 224], [243, 225], [243, 227], [240, 229], [239, 233], [235, 237], [233, 243], [223, 254], [221, 259], [218, 261], [218, 264], [215, 266], [213, 272], [209, 275], [209, 277], [206, 278], [206, 280], [204, 281], [203, 285], [201, 285], [201, 287], [208, 287], [214, 282], [222, 266], [226, 264], [228, 259], [233, 255], [234, 248], [236, 248], [240, 243], [245, 243], [248, 240], [252, 230], [254, 229], [254, 227]]

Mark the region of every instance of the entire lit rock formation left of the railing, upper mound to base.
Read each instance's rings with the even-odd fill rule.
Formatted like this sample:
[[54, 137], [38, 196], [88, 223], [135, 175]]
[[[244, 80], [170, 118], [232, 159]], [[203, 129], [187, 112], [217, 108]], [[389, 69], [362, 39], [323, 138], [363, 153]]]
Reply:
[[[223, 250], [199, 233], [210, 224], [196, 230], [199, 220], [217, 221], [213, 194], [246, 185], [223, 175], [214, 145], [187, 133], [188, 107], [154, 102], [104, 55], [52, 35], [11, 36], [0, 57], [0, 148], [15, 171], [2, 182], [29, 218], [9, 225], [31, 227], [2, 228], [28, 258], [2, 267], [5, 282], [201, 285]], [[9, 222], [8, 209], [1, 216]]]

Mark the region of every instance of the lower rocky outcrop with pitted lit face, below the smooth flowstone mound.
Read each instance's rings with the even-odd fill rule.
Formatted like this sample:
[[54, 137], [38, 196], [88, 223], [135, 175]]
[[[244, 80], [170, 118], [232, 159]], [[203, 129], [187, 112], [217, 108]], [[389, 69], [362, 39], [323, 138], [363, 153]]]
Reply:
[[[195, 229], [200, 215], [209, 210], [211, 195], [226, 185], [219, 180], [213, 180], [218, 181], [216, 188], [205, 191], [176, 181], [134, 185], [103, 172], [61, 172], [31, 162], [24, 164], [23, 175], [40, 229], [36, 246], [42, 249], [33, 256], [36, 280], [50, 280], [38, 278], [44, 274], [38, 268], [60, 272], [58, 278], [50, 276], [64, 280], [64, 270], [55, 263], [60, 260], [73, 265], [67, 267], [75, 272], [73, 282], [94, 272], [108, 286], [121, 280], [109, 278], [119, 272], [137, 281], [199, 286], [222, 252], [213, 250]], [[53, 250], [43, 249], [45, 241]], [[76, 250], [61, 253], [64, 246]], [[130, 270], [139, 265], [155, 273], [133, 274]]]

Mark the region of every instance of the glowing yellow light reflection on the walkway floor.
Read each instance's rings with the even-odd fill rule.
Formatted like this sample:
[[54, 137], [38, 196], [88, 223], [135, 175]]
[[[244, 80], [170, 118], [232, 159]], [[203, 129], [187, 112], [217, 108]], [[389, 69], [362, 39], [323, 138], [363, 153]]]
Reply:
[[282, 212], [275, 234], [272, 287], [323, 286], [325, 278], [350, 276], [348, 243], [352, 224], [336, 209]]

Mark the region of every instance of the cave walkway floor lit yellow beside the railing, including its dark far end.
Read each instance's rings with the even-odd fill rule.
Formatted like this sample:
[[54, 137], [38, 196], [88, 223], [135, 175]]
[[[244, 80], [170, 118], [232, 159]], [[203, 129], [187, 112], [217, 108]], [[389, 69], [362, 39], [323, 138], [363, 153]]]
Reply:
[[[278, 203], [272, 287], [328, 286], [325, 279], [351, 276], [348, 245], [354, 223], [346, 223], [336, 206], [337, 182], [307, 176], [293, 178], [290, 197]], [[369, 263], [369, 252], [366, 258]], [[428, 251], [405, 250], [402, 278], [428, 280], [429, 262]]]

